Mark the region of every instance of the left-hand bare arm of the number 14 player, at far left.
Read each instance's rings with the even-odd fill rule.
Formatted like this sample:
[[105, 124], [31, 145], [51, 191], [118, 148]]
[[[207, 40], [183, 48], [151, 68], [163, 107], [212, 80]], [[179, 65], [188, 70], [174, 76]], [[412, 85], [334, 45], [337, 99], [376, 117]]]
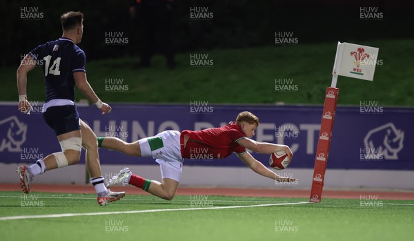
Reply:
[[21, 61], [19, 68], [17, 69], [17, 91], [19, 92], [19, 110], [22, 113], [30, 113], [32, 106], [28, 102], [28, 98], [26, 97], [26, 87], [27, 87], [27, 79], [28, 73], [32, 70], [36, 64], [35, 61], [30, 55], [26, 55]]

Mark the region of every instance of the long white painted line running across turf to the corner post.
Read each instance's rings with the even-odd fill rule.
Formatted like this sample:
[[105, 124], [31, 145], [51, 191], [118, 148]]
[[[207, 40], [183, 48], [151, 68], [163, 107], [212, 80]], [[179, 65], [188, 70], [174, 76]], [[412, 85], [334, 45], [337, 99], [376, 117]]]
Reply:
[[47, 215], [24, 215], [24, 216], [9, 216], [1, 217], [0, 220], [26, 220], [33, 218], [68, 218], [76, 216], [93, 216], [93, 215], [112, 215], [112, 214], [129, 214], [129, 213], [157, 213], [168, 211], [194, 211], [194, 210], [208, 210], [208, 209], [242, 209], [253, 208], [257, 206], [284, 206], [295, 204], [310, 204], [311, 202], [290, 202], [290, 203], [276, 203], [276, 204], [257, 204], [246, 206], [210, 206], [202, 208], [188, 208], [188, 209], [148, 209], [148, 210], [135, 210], [135, 211], [114, 211], [114, 212], [98, 212], [98, 213], [60, 213], [60, 214], [47, 214]]

